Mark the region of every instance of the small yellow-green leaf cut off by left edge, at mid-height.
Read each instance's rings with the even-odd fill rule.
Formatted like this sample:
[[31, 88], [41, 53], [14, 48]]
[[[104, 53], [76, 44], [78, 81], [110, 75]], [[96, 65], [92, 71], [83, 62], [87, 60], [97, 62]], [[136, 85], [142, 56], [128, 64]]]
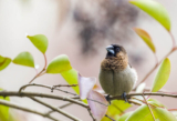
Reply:
[[11, 62], [10, 58], [0, 56], [0, 71], [7, 68], [10, 64], [10, 62]]

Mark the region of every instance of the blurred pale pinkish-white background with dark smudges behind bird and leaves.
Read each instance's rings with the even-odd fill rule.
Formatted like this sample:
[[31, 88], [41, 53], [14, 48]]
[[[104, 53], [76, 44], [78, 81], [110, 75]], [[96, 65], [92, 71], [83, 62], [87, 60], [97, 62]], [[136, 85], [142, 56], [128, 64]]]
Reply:
[[[171, 19], [171, 33], [177, 38], [177, 1], [156, 0], [168, 11]], [[44, 60], [40, 51], [25, 38], [25, 34], [45, 34], [49, 39], [48, 62], [59, 54], [67, 54], [71, 64], [84, 77], [98, 77], [101, 61], [105, 58], [105, 47], [117, 43], [125, 47], [129, 63], [137, 70], [138, 81], [154, 67], [155, 58], [150, 49], [133, 31], [134, 27], [146, 30], [157, 50], [160, 60], [171, 48], [171, 39], [167, 31], [153, 18], [131, 6], [127, 0], [0, 0], [0, 54], [14, 58], [22, 51], [29, 51], [34, 61], [43, 68]], [[177, 53], [169, 56], [171, 73], [163, 89], [177, 91]], [[156, 71], [146, 80], [152, 85]], [[19, 90], [35, 75], [35, 70], [10, 64], [0, 72], [0, 88]], [[48, 85], [65, 84], [60, 74], [44, 74], [35, 83]], [[63, 88], [73, 92], [70, 88]], [[27, 91], [51, 93], [48, 89], [29, 88]], [[54, 91], [55, 94], [63, 94]], [[176, 100], [156, 98], [168, 108], [177, 108]], [[66, 102], [46, 100], [55, 107]], [[30, 99], [11, 98], [17, 104], [39, 111], [49, 109], [34, 103]], [[83, 121], [91, 121], [87, 110], [72, 104], [65, 111]], [[132, 110], [132, 109], [129, 109]], [[48, 121], [35, 114], [11, 110], [17, 121]], [[67, 118], [53, 113], [56, 118]]]

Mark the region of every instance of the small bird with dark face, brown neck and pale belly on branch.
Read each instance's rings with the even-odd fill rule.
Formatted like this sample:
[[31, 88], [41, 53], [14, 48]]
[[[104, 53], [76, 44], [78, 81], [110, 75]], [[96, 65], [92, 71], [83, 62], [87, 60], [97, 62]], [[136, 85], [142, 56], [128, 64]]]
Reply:
[[106, 47], [107, 53], [101, 62], [100, 83], [105, 91], [106, 99], [110, 95], [122, 95], [125, 101], [126, 93], [129, 93], [136, 81], [137, 72], [128, 63], [128, 56], [124, 47], [119, 44], [111, 44]]

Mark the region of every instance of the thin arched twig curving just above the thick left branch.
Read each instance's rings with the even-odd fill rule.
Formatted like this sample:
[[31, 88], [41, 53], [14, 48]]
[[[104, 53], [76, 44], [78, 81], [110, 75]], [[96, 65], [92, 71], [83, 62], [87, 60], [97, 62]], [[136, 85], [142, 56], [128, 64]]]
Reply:
[[[62, 87], [62, 84], [60, 84]], [[70, 84], [69, 84], [70, 85]], [[28, 88], [28, 87], [42, 87], [42, 88], [48, 88], [48, 89], [51, 89], [51, 90], [58, 90], [58, 91], [62, 91], [64, 93], [69, 93], [69, 94], [72, 94], [72, 95], [77, 95], [75, 93], [72, 93], [72, 92], [69, 92], [69, 91], [64, 91], [64, 90], [61, 90], [61, 89], [52, 89], [52, 87], [50, 85], [44, 85], [44, 84], [37, 84], [37, 83], [31, 83], [31, 84], [25, 84], [23, 87], [20, 88], [19, 90], [19, 93], [21, 93], [21, 91], [24, 89], [24, 88]], [[63, 87], [66, 87], [66, 84], [63, 84]]]

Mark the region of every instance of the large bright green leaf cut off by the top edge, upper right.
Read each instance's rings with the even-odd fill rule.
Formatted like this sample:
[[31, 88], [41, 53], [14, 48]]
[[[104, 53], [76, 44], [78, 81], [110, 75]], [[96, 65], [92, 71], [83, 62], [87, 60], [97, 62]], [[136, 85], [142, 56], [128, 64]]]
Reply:
[[154, 0], [131, 0], [129, 2], [156, 19], [167, 31], [170, 31], [168, 12], [160, 3]]

